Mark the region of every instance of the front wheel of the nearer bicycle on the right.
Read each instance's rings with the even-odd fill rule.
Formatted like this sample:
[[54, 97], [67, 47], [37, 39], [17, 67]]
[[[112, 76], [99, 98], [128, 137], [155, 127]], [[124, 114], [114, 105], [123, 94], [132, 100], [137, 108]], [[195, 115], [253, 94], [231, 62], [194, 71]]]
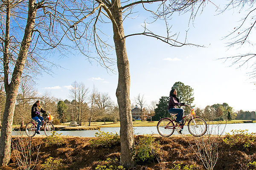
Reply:
[[204, 119], [195, 117], [189, 120], [188, 129], [193, 136], [203, 136], [207, 131], [207, 124]]

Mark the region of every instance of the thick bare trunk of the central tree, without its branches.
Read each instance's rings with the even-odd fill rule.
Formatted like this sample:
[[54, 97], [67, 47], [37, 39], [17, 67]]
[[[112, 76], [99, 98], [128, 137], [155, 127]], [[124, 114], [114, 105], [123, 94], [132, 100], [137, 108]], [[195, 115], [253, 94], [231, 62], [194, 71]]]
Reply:
[[115, 23], [113, 23], [114, 43], [116, 48], [118, 85], [116, 97], [119, 105], [120, 116], [120, 141], [121, 141], [121, 164], [125, 168], [132, 167], [132, 147], [134, 146], [134, 131], [131, 116], [130, 101], [130, 70], [128, 56], [126, 53], [124, 30], [122, 25], [122, 10], [120, 0], [112, 0], [110, 9]]

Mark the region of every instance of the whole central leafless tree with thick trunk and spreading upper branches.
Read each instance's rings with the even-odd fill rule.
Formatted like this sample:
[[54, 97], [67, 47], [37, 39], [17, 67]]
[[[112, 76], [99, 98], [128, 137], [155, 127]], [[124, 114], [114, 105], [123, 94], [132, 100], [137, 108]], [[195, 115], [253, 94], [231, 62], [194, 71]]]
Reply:
[[[70, 28], [74, 29], [72, 34], [74, 42], [78, 43], [78, 41], [75, 41], [77, 37], [89, 35], [88, 37], [85, 37], [86, 44], [78, 43], [78, 47], [84, 49], [85, 45], [87, 45], [87, 47], [90, 48], [92, 46], [91, 44], [93, 44], [102, 65], [108, 67], [106, 63], [112, 61], [111, 58], [108, 57], [108, 49], [115, 49], [118, 69], [116, 97], [120, 116], [121, 164], [123, 164], [125, 168], [129, 168], [134, 165], [134, 161], [132, 159], [134, 132], [130, 101], [131, 80], [125, 39], [135, 35], [144, 35], [156, 38], [157, 40], [161, 40], [162, 42], [175, 47], [188, 45], [188, 43], [186, 43], [186, 38], [185, 41], [182, 42], [177, 40], [177, 37], [175, 37], [177, 35], [173, 35], [171, 33], [167, 21], [175, 12], [191, 12], [190, 17], [193, 18], [195, 16], [194, 11], [195, 13], [198, 11], [196, 8], [202, 6], [204, 3], [204, 0], [128, 0], [122, 3], [121, 0], [87, 0], [84, 4], [84, 8], [82, 9], [84, 10], [84, 15], [81, 17], [80, 14], [77, 14], [76, 22], [73, 20], [67, 20], [67, 26], [71, 25]], [[141, 8], [139, 8], [139, 5], [141, 5]], [[138, 8], [134, 8], [135, 6]], [[166, 26], [166, 36], [154, 34], [153, 31], [148, 30], [146, 27], [147, 24], [145, 24], [143, 32], [125, 35], [123, 23], [125, 22], [125, 19], [127, 20], [130, 18], [129, 15], [134, 14], [134, 9], [138, 9], [140, 12], [145, 10], [152, 15], [153, 20], [163, 19], [163, 24]], [[101, 29], [103, 24], [108, 24], [109, 22], [112, 24], [114, 47], [105, 41], [103, 35], [107, 33], [103, 32]], [[81, 52], [84, 54], [83, 50], [81, 50]]]

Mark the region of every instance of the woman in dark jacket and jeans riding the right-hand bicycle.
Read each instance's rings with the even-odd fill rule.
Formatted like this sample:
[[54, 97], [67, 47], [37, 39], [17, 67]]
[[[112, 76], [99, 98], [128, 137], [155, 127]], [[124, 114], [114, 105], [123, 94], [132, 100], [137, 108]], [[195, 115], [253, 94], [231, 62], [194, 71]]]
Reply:
[[[176, 108], [177, 105], [183, 106], [183, 105], [185, 105], [185, 103], [180, 103], [180, 99], [177, 97], [177, 90], [175, 88], [173, 88], [170, 91], [168, 112], [176, 115], [176, 119], [175, 119], [176, 123], [183, 124], [183, 122], [181, 120], [182, 120], [184, 111], [183, 111], [183, 109]], [[179, 131], [179, 133], [181, 133], [181, 130]]]

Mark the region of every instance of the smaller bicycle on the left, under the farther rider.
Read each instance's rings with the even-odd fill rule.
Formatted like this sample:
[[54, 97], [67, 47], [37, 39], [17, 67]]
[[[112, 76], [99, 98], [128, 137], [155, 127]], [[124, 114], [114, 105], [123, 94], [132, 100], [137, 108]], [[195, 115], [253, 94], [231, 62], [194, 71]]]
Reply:
[[[40, 130], [42, 130], [44, 128], [44, 133], [46, 136], [52, 135], [52, 133], [54, 131], [54, 126], [52, 124], [53, 118], [54, 117], [52, 117], [51, 114], [49, 113], [49, 115], [47, 117], [44, 117], [44, 120], [46, 119], [47, 121], [44, 121], [44, 124], [41, 125], [41, 127], [40, 127]], [[25, 127], [26, 135], [29, 137], [35, 136], [35, 133], [37, 130], [37, 125], [38, 125], [38, 122], [28, 122]]]

